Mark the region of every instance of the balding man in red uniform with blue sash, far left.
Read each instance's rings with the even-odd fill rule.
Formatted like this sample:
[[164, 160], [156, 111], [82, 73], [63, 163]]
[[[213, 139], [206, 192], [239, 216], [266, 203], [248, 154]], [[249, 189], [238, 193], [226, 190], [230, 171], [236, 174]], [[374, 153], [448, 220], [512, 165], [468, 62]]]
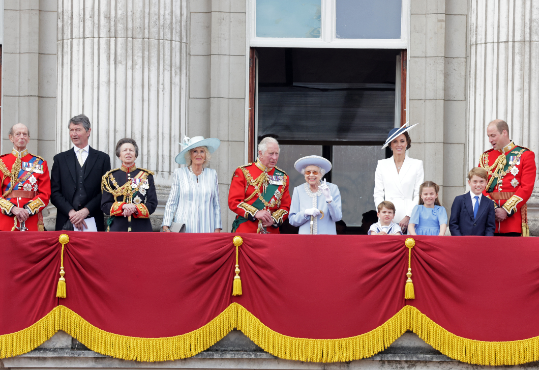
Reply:
[[47, 162], [28, 153], [28, 128], [11, 127], [9, 140], [13, 150], [0, 156], [0, 231], [43, 231], [42, 210], [49, 204], [51, 180]]

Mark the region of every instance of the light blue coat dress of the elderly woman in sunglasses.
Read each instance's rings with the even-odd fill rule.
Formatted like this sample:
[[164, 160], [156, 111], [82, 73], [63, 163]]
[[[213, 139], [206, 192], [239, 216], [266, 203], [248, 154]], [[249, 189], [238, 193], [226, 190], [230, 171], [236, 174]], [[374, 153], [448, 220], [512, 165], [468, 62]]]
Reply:
[[288, 220], [292, 226], [300, 227], [300, 234], [310, 234], [310, 216], [305, 217], [307, 208], [317, 208], [324, 213], [322, 220], [322, 215], [315, 217], [313, 234], [337, 234], [335, 222], [342, 218], [341, 193], [335, 184], [328, 182], [327, 185], [333, 197], [330, 204], [326, 203], [320, 189], [313, 194], [307, 182], [294, 188]]

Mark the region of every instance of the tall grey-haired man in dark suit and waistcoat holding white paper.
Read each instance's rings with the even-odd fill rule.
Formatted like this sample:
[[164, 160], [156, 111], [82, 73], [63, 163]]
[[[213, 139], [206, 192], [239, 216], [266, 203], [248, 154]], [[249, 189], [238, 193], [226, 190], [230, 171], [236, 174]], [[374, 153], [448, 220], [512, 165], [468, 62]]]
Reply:
[[105, 231], [101, 179], [110, 170], [110, 157], [88, 145], [91, 131], [86, 115], [73, 117], [69, 134], [75, 146], [54, 156], [51, 203], [58, 210], [56, 230], [81, 230], [87, 228], [86, 218], [95, 217], [98, 231]]

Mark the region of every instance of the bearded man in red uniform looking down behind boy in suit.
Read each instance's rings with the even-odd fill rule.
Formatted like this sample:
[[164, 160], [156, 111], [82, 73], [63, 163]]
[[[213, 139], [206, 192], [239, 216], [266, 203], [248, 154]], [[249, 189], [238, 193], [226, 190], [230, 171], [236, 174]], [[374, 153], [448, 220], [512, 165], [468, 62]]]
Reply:
[[492, 149], [481, 155], [479, 167], [488, 172], [483, 194], [494, 201], [494, 236], [529, 236], [526, 202], [535, 184], [535, 154], [509, 139], [509, 126], [494, 120], [487, 126]]

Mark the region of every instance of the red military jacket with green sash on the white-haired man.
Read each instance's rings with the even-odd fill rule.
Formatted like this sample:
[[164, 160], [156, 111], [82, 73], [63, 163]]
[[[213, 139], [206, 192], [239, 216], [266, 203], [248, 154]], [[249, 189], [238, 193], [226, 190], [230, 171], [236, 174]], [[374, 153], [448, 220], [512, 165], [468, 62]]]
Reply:
[[288, 176], [283, 170], [268, 168], [258, 159], [255, 163], [240, 166], [232, 175], [229, 190], [229, 208], [237, 214], [232, 232], [260, 232], [259, 220], [254, 214], [267, 209], [274, 225], [266, 230], [279, 234], [279, 226], [288, 217], [290, 203]]

